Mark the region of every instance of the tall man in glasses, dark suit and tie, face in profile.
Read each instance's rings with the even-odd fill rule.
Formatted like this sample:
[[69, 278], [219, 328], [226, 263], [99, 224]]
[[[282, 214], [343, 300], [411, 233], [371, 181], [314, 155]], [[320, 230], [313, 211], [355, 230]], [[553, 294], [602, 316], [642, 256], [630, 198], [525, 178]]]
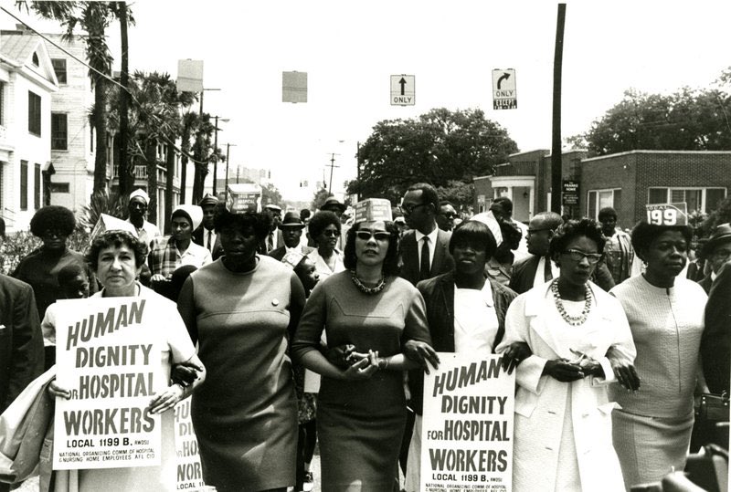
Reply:
[[410, 229], [401, 238], [400, 276], [417, 285], [420, 280], [451, 271], [454, 267], [449, 250], [451, 233], [437, 226], [440, 199], [434, 186], [428, 183], [409, 186], [400, 208]]

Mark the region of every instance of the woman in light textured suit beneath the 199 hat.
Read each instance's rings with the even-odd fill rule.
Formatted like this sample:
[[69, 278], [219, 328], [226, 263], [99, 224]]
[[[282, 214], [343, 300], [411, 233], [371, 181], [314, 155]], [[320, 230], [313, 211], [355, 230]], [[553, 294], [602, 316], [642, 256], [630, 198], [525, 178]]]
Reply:
[[[641, 222], [632, 230], [645, 272], [612, 288], [630, 320], [642, 376], [637, 394], [614, 391], [614, 446], [627, 489], [683, 470], [694, 424], [694, 390], [706, 391], [699, 351], [704, 289], [679, 275], [692, 231], [686, 225]], [[615, 388], [620, 390], [620, 388]]]

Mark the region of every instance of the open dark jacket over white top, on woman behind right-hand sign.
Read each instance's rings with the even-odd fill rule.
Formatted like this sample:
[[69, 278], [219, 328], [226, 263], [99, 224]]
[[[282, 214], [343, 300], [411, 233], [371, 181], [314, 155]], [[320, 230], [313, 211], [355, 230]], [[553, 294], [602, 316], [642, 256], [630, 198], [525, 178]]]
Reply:
[[[493, 348], [503, 340], [505, 333], [505, 313], [513, 299], [518, 297], [510, 288], [487, 278], [493, 289], [493, 301], [497, 313], [498, 330]], [[431, 334], [431, 346], [438, 352], [454, 351], [454, 274], [452, 272], [439, 277], [422, 280], [417, 284], [418, 291], [427, 305], [427, 320]], [[413, 370], [408, 372], [408, 387], [411, 390], [411, 405], [419, 415], [423, 408], [424, 372]]]

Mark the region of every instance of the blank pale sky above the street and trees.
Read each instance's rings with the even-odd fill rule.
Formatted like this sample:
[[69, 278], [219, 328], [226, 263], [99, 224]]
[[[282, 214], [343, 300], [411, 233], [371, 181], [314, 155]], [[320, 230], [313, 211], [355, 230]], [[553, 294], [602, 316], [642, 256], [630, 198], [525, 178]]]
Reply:
[[[0, 5], [12, 6], [2, 0]], [[204, 110], [228, 118], [219, 144], [232, 164], [270, 168], [285, 199], [308, 200], [355, 177], [357, 141], [379, 120], [432, 108], [481, 108], [521, 151], [551, 145], [557, 4], [548, 1], [142, 0], [132, 3], [130, 68], [167, 71], [205, 61]], [[731, 2], [567, 2], [563, 68], [566, 138], [625, 89], [708, 87], [731, 66]], [[12, 20], [3, 16], [4, 25]], [[37, 20], [34, 26], [47, 26]], [[119, 69], [118, 28], [109, 29]], [[493, 110], [493, 68], [514, 68], [517, 110]], [[281, 72], [308, 73], [305, 104], [281, 102]], [[416, 105], [391, 106], [389, 77], [416, 77]]]

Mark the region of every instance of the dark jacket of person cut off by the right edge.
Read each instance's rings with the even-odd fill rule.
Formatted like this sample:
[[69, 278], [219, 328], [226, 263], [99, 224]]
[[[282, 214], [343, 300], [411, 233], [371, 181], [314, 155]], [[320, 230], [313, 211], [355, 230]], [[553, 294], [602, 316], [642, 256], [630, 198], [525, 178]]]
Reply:
[[731, 267], [724, 265], [715, 277], [705, 303], [705, 329], [701, 338], [705, 382], [711, 393], [729, 391], [731, 372]]

